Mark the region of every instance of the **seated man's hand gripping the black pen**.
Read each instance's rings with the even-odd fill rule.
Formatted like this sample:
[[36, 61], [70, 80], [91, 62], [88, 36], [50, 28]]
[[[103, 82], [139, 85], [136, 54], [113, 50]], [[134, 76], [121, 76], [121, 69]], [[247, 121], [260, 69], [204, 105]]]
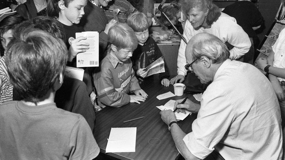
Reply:
[[192, 102], [190, 99], [186, 99], [184, 104], [180, 104], [183, 100], [184, 99], [179, 99], [179, 100], [176, 100], [174, 103], [173, 109], [175, 110], [176, 108], [178, 108], [176, 110], [178, 113], [183, 112], [184, 114], [186, 114], [184, 109], [187, 109], [190, 112], [195, 112], [195, 113], [199, 111], [201, 105]]

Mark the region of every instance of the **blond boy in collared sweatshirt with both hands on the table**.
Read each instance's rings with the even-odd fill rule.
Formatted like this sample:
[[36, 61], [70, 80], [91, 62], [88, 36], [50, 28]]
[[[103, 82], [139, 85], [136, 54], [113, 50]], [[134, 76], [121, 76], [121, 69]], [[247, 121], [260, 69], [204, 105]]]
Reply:
[[[148, 95], [140, 88], [130, 60], [138, 45], [133, 29], [126, 24], [115, 24], [108, 33], [108, 42], [107, 56], [93, 73], [100, 102], [120, 107], [145, 101]], [[129, 92], [135, 95], [128, 95]]]

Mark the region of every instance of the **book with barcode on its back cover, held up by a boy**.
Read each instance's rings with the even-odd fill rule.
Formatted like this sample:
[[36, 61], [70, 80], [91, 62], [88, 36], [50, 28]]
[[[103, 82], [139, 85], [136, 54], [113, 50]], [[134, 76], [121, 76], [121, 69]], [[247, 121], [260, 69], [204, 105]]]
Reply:
[[76, 38], [86, 37], [89, 49], [86, 52], [78, 53], [76, 56], [76, 67], [98, 67], [99, 66], [99, 33], [95, 31], [75, 33]]

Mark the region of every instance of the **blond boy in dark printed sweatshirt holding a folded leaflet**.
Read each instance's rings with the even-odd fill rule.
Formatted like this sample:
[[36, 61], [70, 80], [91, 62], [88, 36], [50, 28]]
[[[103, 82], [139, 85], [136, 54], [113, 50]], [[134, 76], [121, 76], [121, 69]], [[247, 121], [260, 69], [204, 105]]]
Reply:
[[[143, 71], [148, 65], [162, 56], [160, 49], [152, 37], [148, 35], [147, 17], [141, 12], [131, 14], [127, 19], [127, 24], [135, 31], [138, 47], [133, 52], [133, 68], [140, 78], [147, 76], [147, 71]], [[169, 86], [168, 68], [164, 63], [165, 72], [159, 73], [161, 85]], [[141, 79], [140, 78], [140, 79]]]

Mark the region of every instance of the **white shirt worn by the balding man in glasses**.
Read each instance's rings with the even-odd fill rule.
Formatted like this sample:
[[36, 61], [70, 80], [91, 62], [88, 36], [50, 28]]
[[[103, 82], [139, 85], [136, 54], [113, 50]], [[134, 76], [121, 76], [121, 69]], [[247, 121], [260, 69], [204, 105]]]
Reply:
[[281, 159], [280, 108], [269, 80], [254, 66], [227, 59], [183, 141], [200, 159], [214, 149], [231, 160]]

